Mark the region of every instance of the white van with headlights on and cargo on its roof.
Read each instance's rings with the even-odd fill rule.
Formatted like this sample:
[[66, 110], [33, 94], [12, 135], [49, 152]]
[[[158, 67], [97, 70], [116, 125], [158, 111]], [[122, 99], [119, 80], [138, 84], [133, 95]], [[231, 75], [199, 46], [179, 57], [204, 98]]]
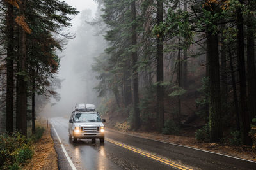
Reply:
[[73, 143], [76, 143], [77, 139], [95, 140], [96, 138], [100, 139], [100, 143], [104, 143], [105, 129], [103, 122], [106, 122], [106, 120], [101, 120], [93, 104], [76, 104], [69, 120], [69, 137]]

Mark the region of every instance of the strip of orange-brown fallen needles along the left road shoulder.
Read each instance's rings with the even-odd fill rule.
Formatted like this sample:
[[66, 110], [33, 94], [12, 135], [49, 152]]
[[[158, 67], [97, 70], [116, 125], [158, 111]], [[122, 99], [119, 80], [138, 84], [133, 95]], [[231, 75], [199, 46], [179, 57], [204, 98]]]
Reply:
[[28, 164], [24, 167], [26, 170], [32, 169], [44, 169], [54, 170], [58, 169], [57, 153], [54, 149], [54, 143], [51, 137], [50, 129], [46, 127], [46, 130], [42, 136], [34, 145], [34, 155]]

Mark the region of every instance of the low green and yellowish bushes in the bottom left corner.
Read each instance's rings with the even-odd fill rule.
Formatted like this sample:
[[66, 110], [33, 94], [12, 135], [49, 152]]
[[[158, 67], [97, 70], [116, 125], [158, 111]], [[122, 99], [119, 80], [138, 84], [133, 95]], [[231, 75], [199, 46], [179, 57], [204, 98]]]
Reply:
[[44, 128], [37, 127], [31, 138], [20, 132], [0, 135], [0, 169], [21, 169], [33, 156], [33, 143], [42, 137]]

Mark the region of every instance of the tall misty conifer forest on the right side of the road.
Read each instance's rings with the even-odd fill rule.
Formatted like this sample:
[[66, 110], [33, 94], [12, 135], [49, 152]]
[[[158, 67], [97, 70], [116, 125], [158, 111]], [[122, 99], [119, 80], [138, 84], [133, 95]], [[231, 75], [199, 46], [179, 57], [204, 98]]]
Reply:
[[[95, 57], [100, 111], [133, 131], [196, 139], [255, 134], [253, 0], [97, 0], [108, 48]], [[113, 126], [115, 123], [113, 123]], [[231, 137], [230, 137], [231, 136]]]

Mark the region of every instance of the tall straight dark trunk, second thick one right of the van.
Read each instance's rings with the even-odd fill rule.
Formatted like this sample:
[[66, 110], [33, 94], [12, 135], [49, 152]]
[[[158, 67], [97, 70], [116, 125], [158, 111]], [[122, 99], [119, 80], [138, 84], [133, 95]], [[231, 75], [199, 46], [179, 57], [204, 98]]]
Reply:
[[[157, 25], [163, 22], [163, 1], [157, 1]], [[158, 112], [158, 131], [162, 132], [164, 127], [164, 87], [160, 85], [164, 81], [163, 70], [163, 36], [159, 34], [156, 39], [156, 81], [157, 81], [157, 112]]]

